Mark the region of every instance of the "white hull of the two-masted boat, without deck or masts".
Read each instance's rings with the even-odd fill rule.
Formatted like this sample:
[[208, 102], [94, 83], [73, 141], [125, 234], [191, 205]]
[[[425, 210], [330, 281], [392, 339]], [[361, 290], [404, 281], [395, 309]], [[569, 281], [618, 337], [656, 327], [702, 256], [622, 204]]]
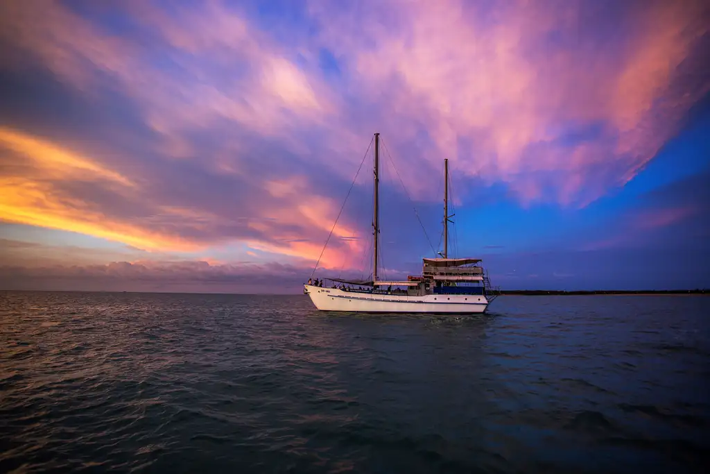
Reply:
[[320, 311], [351, 313], [483, 313], [488, 300], [483, 295], [425, 295], [366, 293], [304, 285]]

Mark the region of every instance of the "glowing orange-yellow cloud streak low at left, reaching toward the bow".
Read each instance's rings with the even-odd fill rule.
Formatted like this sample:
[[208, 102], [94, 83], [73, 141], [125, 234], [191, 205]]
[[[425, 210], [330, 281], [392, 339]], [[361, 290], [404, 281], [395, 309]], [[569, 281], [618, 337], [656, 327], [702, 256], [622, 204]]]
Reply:
[[[241, 239], [254, 249], [315, 262], [322, 244], [304, 237], [318, 235], [320, 239], [330, 232], [337, 215], [332, 200], [313, 193], [304, 177], [269, 181], [264, 188], [275, 200], [258, 210], [258, 219], [244, 215], [251, 212], [249, 208], [243, 210], [246, 226], [262, 238], [230, 238], [216, 233], [229, 222], [208, 210], [146, 202], [147, 198], [141, 198], [151, 187], [146, 176], [138, 186], [135, 180], [82, 153], [21, 131], [0, 128], [0, 162], [5, 170], [0, 176], [0, 220], [79, 232], [151, 252], [196, 252], [217, 242]], [[110, 189], [115, 200], [131, 203], [137, 199], [137, 206], [150, 211], [143, 212], [141, 207], [136, 215], [117, 217], [110, 203], [105, 207], [107, 204], [92, 200], [90, 195], [72, 193], [72, 183], [97, 183]], [[239, 215], [234, 217], [234, 222], [240, 220]], [[185, 232], [193, 237], [185, 237]], [[337, 225], [322, 264], [341, 265], [357, 254], [359, 242], [341, 239], [356, 233], [351, 227]]]

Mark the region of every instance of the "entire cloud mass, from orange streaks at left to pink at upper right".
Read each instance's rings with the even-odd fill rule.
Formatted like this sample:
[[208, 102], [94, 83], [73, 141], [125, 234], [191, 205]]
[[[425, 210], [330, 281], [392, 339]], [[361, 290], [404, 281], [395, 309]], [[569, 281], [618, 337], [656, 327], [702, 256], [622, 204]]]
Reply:
[[[710, 90], [702, 1], [292, 8], [276, 31], [249, 2], [0, 5], [0, 72], [48, 72], [97, 118], [72, 126], [31, 94], [33, 120], [0, 114], [0, 219], [312, 263], [373, 131], [420, 200], [439, 200], [447, 157], [520, 205], [580, 206], [633, 178]], [[325, 266], [366, 250], [355, 194]]]

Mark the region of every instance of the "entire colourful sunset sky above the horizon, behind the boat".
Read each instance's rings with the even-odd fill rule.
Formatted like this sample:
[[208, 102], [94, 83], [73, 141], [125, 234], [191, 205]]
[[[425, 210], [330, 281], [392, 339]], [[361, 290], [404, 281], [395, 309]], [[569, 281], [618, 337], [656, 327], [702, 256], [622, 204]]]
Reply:
[[[6, 0], [0, 25], [0, 289], [300, 291], [375, 132], [390, 278], [441, 249], [449, 158], [449, 253], [493, 284], [710, 287], [706, 1]], [[364, 160], [316, 276], [371, 271]]]

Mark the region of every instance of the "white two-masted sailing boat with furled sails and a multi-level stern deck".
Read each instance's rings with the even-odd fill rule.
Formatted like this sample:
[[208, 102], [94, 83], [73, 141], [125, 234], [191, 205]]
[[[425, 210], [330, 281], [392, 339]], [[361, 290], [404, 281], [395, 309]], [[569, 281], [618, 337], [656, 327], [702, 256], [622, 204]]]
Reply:
[[[379, 156], [380, 134], [374, 134], [374, 215], [372, 278], [347, 280], [325, 278], [309, 280], [303, 293], [310, 296], [320, 311], [351, 313], [484, 313], [496, 298], [491, 290], [488, 273], [478, 258], [449, 258], [449, 160], [444, 159], [444, 229], [439, 257], [423, 258], [420, 275], [410, 275], [406, 281], [378, 278], [379, 224]], [[326, 242], [327, 244], [327, 242]], [[314, 269], [315, 272], [315, 269]]]

